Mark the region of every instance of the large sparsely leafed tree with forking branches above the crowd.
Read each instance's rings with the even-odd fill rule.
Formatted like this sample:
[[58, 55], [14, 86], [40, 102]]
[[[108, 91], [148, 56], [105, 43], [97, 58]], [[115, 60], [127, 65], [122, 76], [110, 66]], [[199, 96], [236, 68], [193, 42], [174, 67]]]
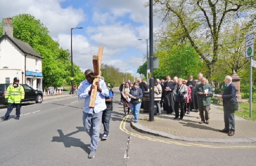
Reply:
[[[255, 8], [255, 0], [153, 0], [155, 13], [163, 16], [163, 22], [177, 22], [181, 29], [181, 37], [186, 37], [200, 58], [207, 66], [206, 77], [213, 74], [219, 53], [219, 38], [223, 24], [235, 17], [235, 12]], [[177, 29], [180, 31], [180, 29]], [[211, 45], [211, 53], [207, 56], [198, 38], [206, 38]]]

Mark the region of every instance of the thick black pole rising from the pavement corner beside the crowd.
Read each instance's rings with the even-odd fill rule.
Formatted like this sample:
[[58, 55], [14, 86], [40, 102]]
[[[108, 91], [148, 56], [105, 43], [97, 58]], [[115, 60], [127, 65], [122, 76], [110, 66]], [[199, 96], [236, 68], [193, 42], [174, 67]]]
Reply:
[[153, 0], [149, 0], [149, 121], [154, 121]]

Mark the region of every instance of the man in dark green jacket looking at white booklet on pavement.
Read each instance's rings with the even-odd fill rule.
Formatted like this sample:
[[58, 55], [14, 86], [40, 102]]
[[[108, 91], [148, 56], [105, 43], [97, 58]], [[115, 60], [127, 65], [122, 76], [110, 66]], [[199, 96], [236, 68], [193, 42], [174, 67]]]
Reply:
[[213, 95], [213, 87], [209, 83], [206, 83], [206, 78], [201, 78], [201, 83], [196, 86], [195, 95], [197, 96], [198, 109], [201, 117], [199, 123], [209, 124], [209, 108], [211, 96]]

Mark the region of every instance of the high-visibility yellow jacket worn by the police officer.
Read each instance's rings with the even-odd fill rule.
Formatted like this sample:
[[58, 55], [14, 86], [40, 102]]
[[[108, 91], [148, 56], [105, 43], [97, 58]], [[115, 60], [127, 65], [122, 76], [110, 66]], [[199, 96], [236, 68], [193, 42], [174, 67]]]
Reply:
[[19, 84], [16, 87], [10, 84], [5, 92], [5, 98], [8, 99], [8, 103], [21, 103], [20, 101], [24, 99], [24, 97], [24, 88]]

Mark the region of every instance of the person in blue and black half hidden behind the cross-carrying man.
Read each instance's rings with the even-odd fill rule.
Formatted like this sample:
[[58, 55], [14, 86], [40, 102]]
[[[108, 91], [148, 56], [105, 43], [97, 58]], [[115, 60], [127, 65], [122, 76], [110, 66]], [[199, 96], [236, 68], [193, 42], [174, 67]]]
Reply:
[[[107, 81], [105, 81], [105, 84], [107, 85]], [[103, 111], [102, 113], [102, 124], [104, 127], [104, 133], [102, 136], [102, 140], [106, 140], [109, 135], [109, 121], [111, 117], [111, 111], [113, 110], [113, 103], [112, 103], [112, 98], [113, 98], [113, 92], [112, 89], [107, 86], [109, 90], [109, 97], [105, 97], [105, 103], [107, 108]]]

